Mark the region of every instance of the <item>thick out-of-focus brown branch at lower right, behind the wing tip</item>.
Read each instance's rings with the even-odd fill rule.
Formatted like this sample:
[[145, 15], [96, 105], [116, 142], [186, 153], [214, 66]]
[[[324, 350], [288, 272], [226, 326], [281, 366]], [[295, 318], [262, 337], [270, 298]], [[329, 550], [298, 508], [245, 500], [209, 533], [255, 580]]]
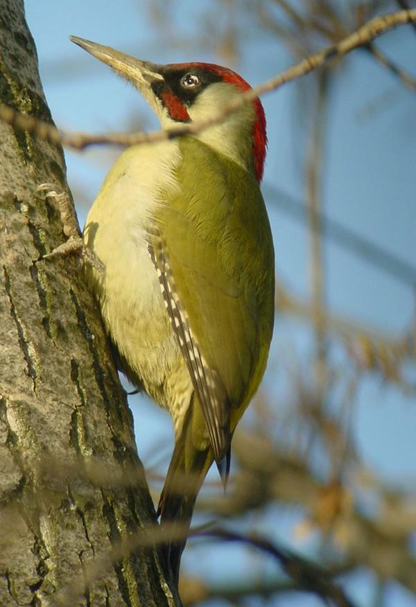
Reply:
[[[325, 531], [336, 525], [342, 531], [341, 548], [348, 567], [370, 567], [383, 578], [396, 579], [416, 592], [416, 558], [408, 548], [416, 508], [405, 507], [397, 500], [391, 509], [388, 491], [379, 490], [385, 506], [376, 520], [370, 520], [361, 515], [351, 499], [346, 499], [343, 486], [322, 485], [304, 461], [288, 456], [287, 451], [280, 452], [266, 436], [239, 431], [233, 450], [241, 464], [241, 474], [227, 497], [211, 500], [211, 509], [235, 516], [275, 500], [304, 506], [318, 529]], [[391, 524], [395, 520], [403, 524]], [[339, 556], [337, 562], [343, 564]]]

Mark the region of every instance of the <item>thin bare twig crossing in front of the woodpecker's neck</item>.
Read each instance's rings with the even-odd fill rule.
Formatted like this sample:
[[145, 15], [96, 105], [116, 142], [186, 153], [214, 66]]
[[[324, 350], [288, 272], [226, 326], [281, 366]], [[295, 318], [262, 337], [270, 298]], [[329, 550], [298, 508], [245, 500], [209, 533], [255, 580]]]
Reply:
[[174, 139], [183, 135], [195, 135], [197, 132], [225, 120], [229, 114], [241, 108], [245, 103], [254, 101], [257, 96], [275, 91], [282, 85], [309, 74], [309, 72], [321, 67], [330, 60], [343, 57], [350, 51], [358, 48], [358, 46], [369, 44], [374, 38], [386, 31], [410, 22], [416, 22], [416, 9], [402, 10], [376, 17], [361, 28], [358, 28], [358, 30], [351, 35], [345, 37], [338, 42], [338, 44], [329, 46], [327, 49], [313, 55], [309, 55], [309, 57], [306, 57], [282, 74], [241, 94], [241, 96], [234, 99], [232, 103], [225, 105], [223, 110], [211, 114], [207, 119], [194, 123], [181, 124], [180, 126], [175, 126], [168, 130], [151, 133], [114, 133], [109, 135], [90, 135], [82, 132], [60, 132], [60, 130], [55, 126], [52, 126], [51, 123], [39, 121], [27, 114], [20, 114], [6, 105], [0, 105], [0, 119], [8, 122], [13, 128], [26, 130], [40, 139], [47, 140], [51, 143], [60, 143], [75, 149], [83, 149], [87, 146], [97, 144], [131, 146], [165, 141], [166, 139]]

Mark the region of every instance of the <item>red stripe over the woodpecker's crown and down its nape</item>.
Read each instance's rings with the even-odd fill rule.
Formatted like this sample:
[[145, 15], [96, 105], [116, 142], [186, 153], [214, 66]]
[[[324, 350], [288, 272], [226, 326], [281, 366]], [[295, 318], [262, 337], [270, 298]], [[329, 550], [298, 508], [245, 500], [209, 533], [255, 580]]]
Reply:
[[[241, 91], [249, 91], [252, 87], [250, 87], [247, 80], [241, 78], [239, 74], [237, 74], [232, 69], [228, 69], [227, 67], [222, 67], [221, 65], [216, 65], [215, 63], [184, 63], [177, 64], [177, 67], [200, 67], [202, 69], [210, 69], [214, 71], [215, 74], [220, 76], [223, 82], [234, 85], [236, 88], [241, 89]], [[264, 160], [266, 159], [266, 146], [267, 146], [267, 135], [266, 135], [266, 114], [264, 113], [263, 105], [259, 98], [254, 99], [253, 101], [254, 110], [256, 112], [257, 119], [254, 122], [253, 126], [253, 156], [254, 156], [254, 171], [256, 172], [257, 181], [261, 182], [263, 178], [264, 171]]]

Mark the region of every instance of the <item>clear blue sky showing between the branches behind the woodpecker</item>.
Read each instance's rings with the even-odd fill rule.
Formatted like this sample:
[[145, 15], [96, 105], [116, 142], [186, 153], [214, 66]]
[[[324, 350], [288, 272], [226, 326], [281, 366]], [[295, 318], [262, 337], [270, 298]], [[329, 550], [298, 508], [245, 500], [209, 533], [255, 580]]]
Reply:
[[[193, 35], [198, 40], [198, 14], [204, 4], [209, 6], [209, 3], [185, 0], [173, 3], [175, 10], [171, 18], [177, 32]], [[151, 25], [149, 6], [150, 3], [139, 0], [26, 1], [26, 15], [37, 45], [46, 97], [58, 126], [89, 132], [125, 130], [129, 120], [139, 112], [146, 128], [157, 128], [155, 118], [137, 92], [69, 42], [69, 35], [109, 44], [154, 62], [218, 62], [216, 55], [198, 50], [198, 44], [190, 46], [188, 51], [172, 47]], [[254, 28], [251, 31], [250, 23], [245, 27], [247, 36], [241, 61], [233, 67], [256, 85], [288, 67], [290, 59], [275, 40]], [[413, 69], [416, 77], [416, 40], [409, 28], [388, 33], [379, 44], [402, 67]], [[263, 104], [269, 137], [264, 182], [295, 200], [303, 200], [303, 157], [298, 142], [302, 137], [305, 110], [296, 86], [288, 85], [264, 96]], [[328, 216], [416, 266], [414, 110], [414, 93], [369, 55], [360, 51], [349, 55], [338, 70], [331, 92], [322, 200]], [[104, 149], [80, 154], [67, 151], [68, 180], [73, 191], [83, 189], [85, 198], [92, 203], [115, 155], [116, 152]], [[277, 275], [288, 289], [305, 297], [309, 293], [306, 231], [272, 203], [269, 208]], [[78, 212], [83, 223], [87, 206], [79, 205]], [[324, 268], [331, 311], [387, 334], [397, 335], [409, 327], [415, 309], [415, 292], [407, 284], [331, 243], [324, 246]], [[309, 331], [299, 323], [289, 323], [286, 318], [277, 319], [274, 364], [279, 365], [285, 344], [292, 342], [307, 354]], [[270, 373], [266, 385], [273, 381]], [[416, 382], [414, 369], [411, 373]], [[130, 402], [141, 429], [137, 431], [139, 453], [145, 463], [152, 463], [155, 445], [171, 445], [173, 440], [167, 416], [146, 399], [132, 398]], [[144, 420], [145, 432], [142, 431]], [[407, 397], [372, 375], [361, 385], [353, 425], [354, 440], [365, 465], [394, 486], [415, 485], [414, 397]], [[167, 455], [169, 447], [164, 449]], [[263, 522], [266, 530], [267, 523], [272, 524], [272, 516], [275, 514]], [[289, 542], [293, 540], [296, 517], [297, 513], [287, 515], [288, 520], [279, 529]], [[227, 549], [224, 550], [223, 558], [228, 558]], [[204, 558], [202, 550], [198, 554]], [[192, 567], [190, 561], [184, 562]], [[207, 566], [213, 567], [213, 571], [218, 569], [212, 563]], [[360, 589], [358, 605], [372, 605], [368, 574], [358, 573], [356, 578], [354, 587]], [[388, 604], [415, 605], [415, 599], [396, 586], [392, 586], [390, 592], [395, 600]], [[297, 605], [295, 600], [293, 606]], [[313, 606], [318, 602], [303, 597], [299, 604]]]

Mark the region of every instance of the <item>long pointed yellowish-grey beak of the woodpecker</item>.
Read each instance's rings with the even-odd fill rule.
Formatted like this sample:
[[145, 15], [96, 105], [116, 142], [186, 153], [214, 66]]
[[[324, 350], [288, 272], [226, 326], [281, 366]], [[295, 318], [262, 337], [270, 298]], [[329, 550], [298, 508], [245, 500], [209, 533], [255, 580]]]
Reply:
[[162, 74], [159, 73], [161, 66], [150, 61], [141, 61], [131, 55], [125, 55], [125, 53], [116, 51], [111, 46], [103, 46], [103, 44], [91, 42], [91, 40], [85, 40], [77, 36], [69, 36], [69, 39], [78, 44], [81, 49], [110, 65], [120, 76], [123, 76], [126, 80], [130, 80], [144, 96], [144, 99], [153, 108], [157, 116], [160, 117], [162, 108], [159, 99], [153, 92], [152, 85], [157, 81], [162, 83], [164, 80]]

